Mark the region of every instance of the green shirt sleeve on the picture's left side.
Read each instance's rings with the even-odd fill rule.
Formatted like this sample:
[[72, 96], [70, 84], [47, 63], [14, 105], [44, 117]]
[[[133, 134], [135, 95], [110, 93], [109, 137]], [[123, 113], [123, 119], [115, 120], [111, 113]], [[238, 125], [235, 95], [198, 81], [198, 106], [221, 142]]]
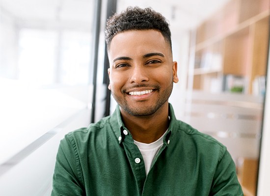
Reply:
[[75, 142], [68, 135], [60, 142], [51, 196], [83, 196], [81, 169]]

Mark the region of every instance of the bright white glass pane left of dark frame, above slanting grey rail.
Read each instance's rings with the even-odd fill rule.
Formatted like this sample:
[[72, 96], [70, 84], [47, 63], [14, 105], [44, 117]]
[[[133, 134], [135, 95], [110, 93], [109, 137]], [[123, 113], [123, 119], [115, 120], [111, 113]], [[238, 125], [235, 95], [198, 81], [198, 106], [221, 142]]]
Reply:
[[0, 1], [0, 164], [87, 109], [93, 3]]

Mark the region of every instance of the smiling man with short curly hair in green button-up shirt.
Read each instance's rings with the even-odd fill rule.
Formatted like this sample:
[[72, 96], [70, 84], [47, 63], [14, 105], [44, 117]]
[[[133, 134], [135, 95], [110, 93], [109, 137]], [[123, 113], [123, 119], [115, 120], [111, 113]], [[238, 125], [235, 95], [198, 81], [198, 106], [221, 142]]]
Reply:
[[52, 196], [243, 196], [226, 147], [174, 116], [162, 15], [129, 7], [108, 20], [106, 41], [118, 106], [61, 141]]

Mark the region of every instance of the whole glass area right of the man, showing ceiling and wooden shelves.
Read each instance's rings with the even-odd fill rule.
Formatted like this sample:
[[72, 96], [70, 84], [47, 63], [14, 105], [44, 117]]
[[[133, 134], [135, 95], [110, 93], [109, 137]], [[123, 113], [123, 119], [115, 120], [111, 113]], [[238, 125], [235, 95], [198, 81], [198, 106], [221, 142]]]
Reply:
[[[270, 0], [119, 0], [169, 21], [178, 119], [223, 143], [245, 195], [255, 195], [269, 50]], [[188, 57], [188, 60], [186, 57]]]

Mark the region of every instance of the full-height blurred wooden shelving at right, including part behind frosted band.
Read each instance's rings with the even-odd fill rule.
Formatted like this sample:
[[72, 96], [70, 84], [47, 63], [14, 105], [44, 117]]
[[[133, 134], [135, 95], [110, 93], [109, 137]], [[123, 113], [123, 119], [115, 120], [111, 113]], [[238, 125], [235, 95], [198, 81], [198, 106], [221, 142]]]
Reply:
[[230, 0], [192, 30], [184, 119], [227, 147], [244, 195], [257, 188], [269, 5]]

